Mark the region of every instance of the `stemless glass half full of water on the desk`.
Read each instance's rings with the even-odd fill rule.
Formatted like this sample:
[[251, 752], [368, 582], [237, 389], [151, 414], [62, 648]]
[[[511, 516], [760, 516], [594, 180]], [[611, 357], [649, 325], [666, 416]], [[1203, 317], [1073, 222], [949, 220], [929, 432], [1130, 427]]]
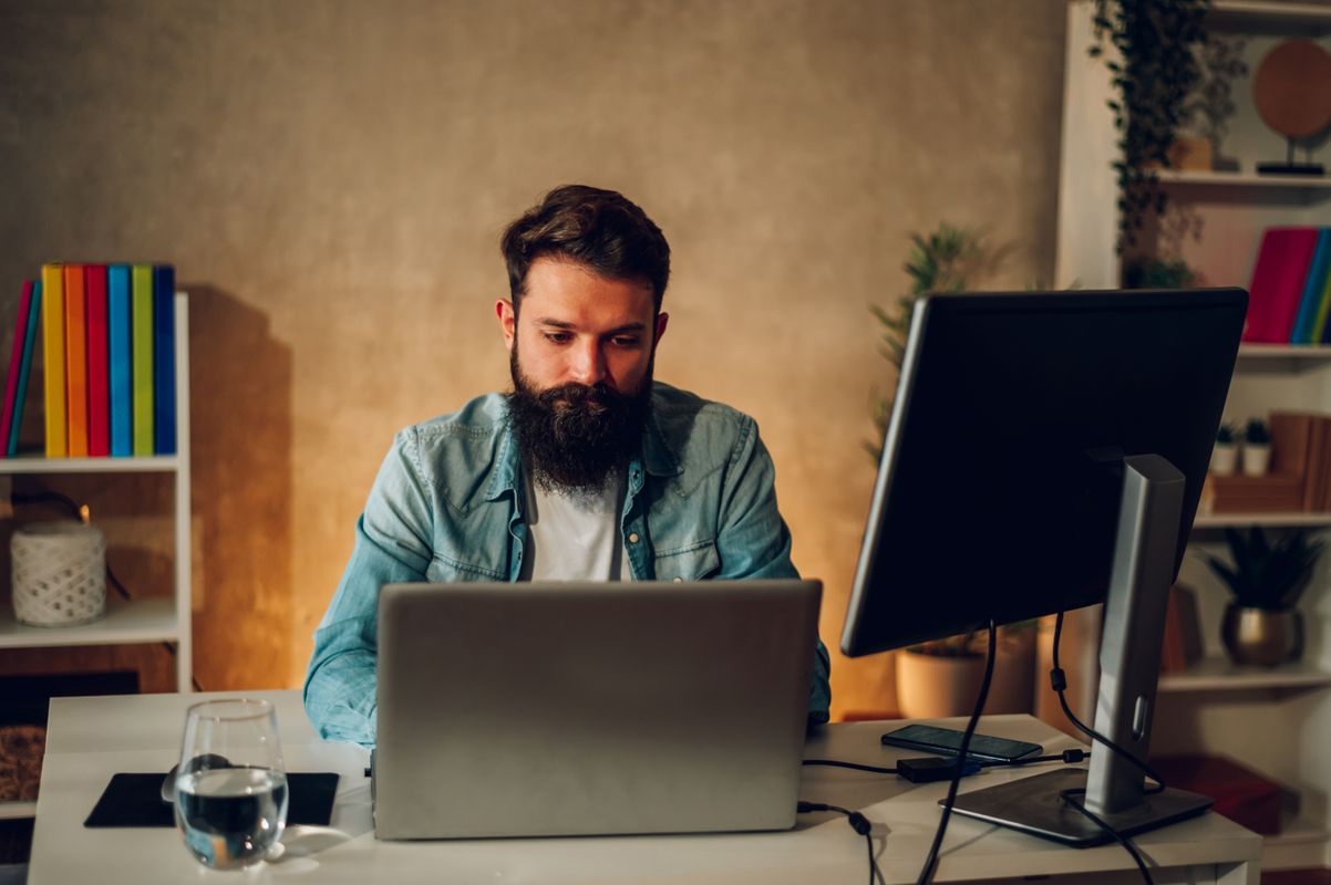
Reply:
[[198, 862], [238, 869], [268, 856], [286, 827], [286, 768], [268, 700], [206, 700], [185, 715], [176, 827]]

